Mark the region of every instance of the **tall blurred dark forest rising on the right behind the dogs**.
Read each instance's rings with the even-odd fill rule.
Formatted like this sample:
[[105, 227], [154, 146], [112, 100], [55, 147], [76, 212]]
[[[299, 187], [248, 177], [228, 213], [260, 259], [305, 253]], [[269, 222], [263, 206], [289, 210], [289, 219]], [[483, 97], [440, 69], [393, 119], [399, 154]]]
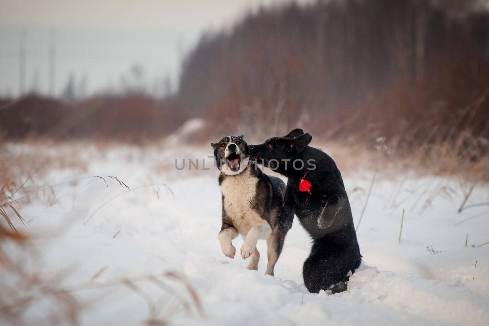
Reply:
[[179, 100], [221, 117], [215, 127], [225, 130], [240, 121], [231, 110], [253, 132], [301, 125], [334, 138], [422, 142], [455, 127], [488, 139], [489, 15], [468, 11], [469, 2], [263, 10], [201, 39], [184, 63]]

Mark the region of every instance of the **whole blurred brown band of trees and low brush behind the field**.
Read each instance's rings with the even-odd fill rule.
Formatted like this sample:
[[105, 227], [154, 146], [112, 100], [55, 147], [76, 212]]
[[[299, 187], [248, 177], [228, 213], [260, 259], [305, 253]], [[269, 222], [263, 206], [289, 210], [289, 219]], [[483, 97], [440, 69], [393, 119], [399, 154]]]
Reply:
[[[438, 146], [477, 161], [489, 147], [489, 13], [478, 1], [337, 0], [262, 8], [205, 33], [165, 99], [144, 90], [0, 102], [7, 138], [139, 141], [205, 121], [194, 141], [270, 137], [393, 148]], [[10, 103], [10, 104], [9, 104]]]

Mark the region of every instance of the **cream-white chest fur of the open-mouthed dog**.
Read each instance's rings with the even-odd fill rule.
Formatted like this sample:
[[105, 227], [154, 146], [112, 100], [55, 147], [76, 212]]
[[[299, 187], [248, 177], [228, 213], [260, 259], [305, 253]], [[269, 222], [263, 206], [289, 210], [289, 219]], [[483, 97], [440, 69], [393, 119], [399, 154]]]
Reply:
[[258, 178], [251, 176], [249, 171], [226, 177], [221, 184], [224, 210], [241, 234], [246, 234], [251, 227], [263, 223], [260, 215], [251, 208], [257, 184]]

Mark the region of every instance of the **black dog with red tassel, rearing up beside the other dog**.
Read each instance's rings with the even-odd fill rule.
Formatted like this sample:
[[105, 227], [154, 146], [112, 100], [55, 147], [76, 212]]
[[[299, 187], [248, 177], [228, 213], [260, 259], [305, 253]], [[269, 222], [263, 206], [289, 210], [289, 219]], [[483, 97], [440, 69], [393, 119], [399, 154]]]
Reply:
[[252, 158], [289, 179], [279, 228], [286, 233], [295, 213], [312, 237], [303, 267], [307, 289], [342, 292], [362, 256], [341, 173], [330, 156], [308, 146], [311, 140], [311, 135], [295, 129], [248, 147]]

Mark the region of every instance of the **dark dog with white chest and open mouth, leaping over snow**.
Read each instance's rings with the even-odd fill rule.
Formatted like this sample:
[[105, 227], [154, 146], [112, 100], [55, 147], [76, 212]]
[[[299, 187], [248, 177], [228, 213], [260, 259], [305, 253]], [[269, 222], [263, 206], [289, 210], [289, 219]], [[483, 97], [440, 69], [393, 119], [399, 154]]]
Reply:
[[231, 240], [238, 233], [244, 238], [241, 256], [251, 257], [248, 269], [258, 270], [259, 239], [267, 240], [268, 264], [265, 274], [273, 276], [287, 232], [278, 228], [285, 184], [268, 176], [248, 160], [246, 142], [241, 136], [224, 137], [211, 143], [217, 167], [221, 170], [219, 186], [222, 192], [222, 228], [219, 233], [222, 253], [234, 258], [236, 248]]

